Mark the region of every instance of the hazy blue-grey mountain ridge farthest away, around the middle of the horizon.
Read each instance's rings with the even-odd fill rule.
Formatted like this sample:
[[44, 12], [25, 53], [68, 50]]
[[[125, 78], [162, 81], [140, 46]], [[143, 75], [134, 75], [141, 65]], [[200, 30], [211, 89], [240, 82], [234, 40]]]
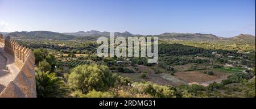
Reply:
[[[105, 36], [108, 37], [109, 36], [109, 32], [100, 32], [100, 31], [96, 31], [96, 30], [92, 30], [92, 31], [79, 31], [79, 32], [65, 32], [63, 33], [65, 35], [73, 35], [73, 36]], [[138, 35], [133, 35], [130, 32], [115, 32], [115, 36], [138, 36]]]

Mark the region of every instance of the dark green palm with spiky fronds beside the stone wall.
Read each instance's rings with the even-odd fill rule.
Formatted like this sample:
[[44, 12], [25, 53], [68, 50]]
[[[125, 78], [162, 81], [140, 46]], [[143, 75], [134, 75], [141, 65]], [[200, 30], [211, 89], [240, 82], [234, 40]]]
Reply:
[[64, 98], [71, 91], [55, 73], [36, 71], [36, 93], [38, 98]]

